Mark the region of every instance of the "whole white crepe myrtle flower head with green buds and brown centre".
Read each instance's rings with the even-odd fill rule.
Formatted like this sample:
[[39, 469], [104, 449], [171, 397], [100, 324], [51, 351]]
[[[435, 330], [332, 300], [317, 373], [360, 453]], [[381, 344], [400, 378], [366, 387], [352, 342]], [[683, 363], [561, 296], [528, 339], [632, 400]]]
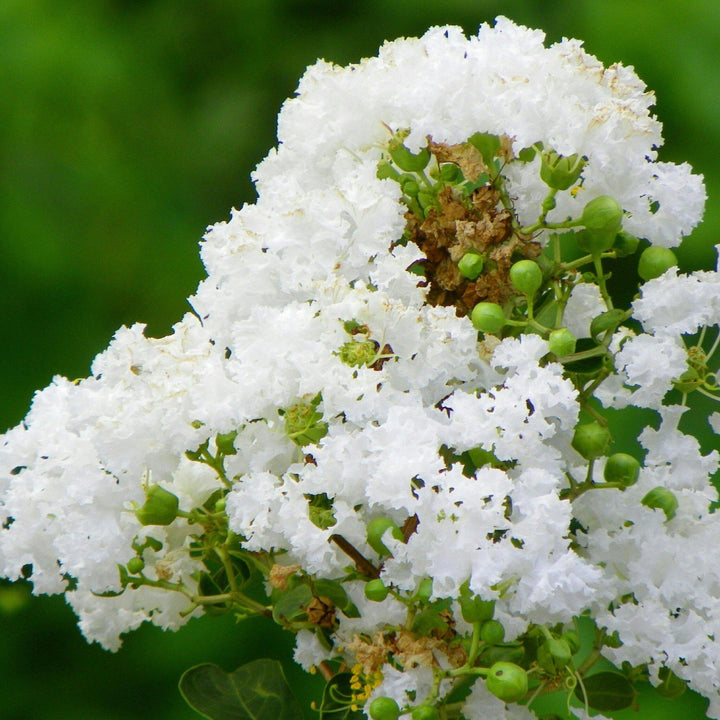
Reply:
[[[534, 717], [587, 672], [589, 615], [606, 657], [720, 717], [718, 453], [679, 429], [716, 391], [720, 273], [670, 269], [626, 310], [603, 267], [702, 215], [653, 102], [505, 18], [309, 68], [257, 202], [205, 234], [193, 312], [121, 328], [3, 436], [0, 574], [111, 650], [270, 617], [340, 710], [393, 720], [469, 680], [457, 716]], [[605, 411], [628, 405], [659, 422], [624, 437]]]

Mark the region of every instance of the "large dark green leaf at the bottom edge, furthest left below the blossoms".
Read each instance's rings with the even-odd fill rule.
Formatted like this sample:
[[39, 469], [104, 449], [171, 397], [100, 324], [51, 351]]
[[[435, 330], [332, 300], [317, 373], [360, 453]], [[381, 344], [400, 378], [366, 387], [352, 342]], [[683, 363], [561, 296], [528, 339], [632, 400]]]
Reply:
[[208, 720], [303, 720], [277, 660], [253, 660], [226, 673], [206, 663], [180, 678], [185, 702]]

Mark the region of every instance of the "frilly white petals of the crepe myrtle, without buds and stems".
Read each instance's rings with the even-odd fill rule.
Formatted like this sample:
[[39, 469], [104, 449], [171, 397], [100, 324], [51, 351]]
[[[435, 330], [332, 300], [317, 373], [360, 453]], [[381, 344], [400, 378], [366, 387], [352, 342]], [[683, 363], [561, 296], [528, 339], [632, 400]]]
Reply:
[[[29, 574], [36, 593], [66, 592], [86, 637], [110, 649], [145, 620], [179, 627], [187, 598], [159, 583], [115, 595], [117, 566], [151, 537], [159, 542], [144, 547], [146, 575], [194, 588], [202, 566], [189, 548], [201, 528], [182, 517], [143, 526], [133, 503], [155, 483], [181, 511], [201, 506], [223, 485], [185, 453], [237, 431], [237, 454], [225, 458], [233, 480], [226, 512], [244, 548], [285, 551], [283, 564], [338, 578], [351, 561], [333, 536], [374, 559], [368, 523], [415, 517], [406, 542], [384, 536], [387, 585], [412, 591], [430, 577], [434, 597], [457, 598], [467, 582], [496, 599], [510, 637], [589, 610], [619, 633], [615, 660], [649, 663], [654, 677], [666, 665], [710, 697], [720, 718], [720, 566], [707, 552], [720, 546], [709, 510], [718, 453], [703, 456], [679, 429], [685, 408], [662, 405], [686, 368], [681, 336], [720, 322], [720, 275], [670, 271], [644, 286], [633, 305], [644, 332], [618, 333], [619, 375], [598, 392], [608, 407], [658, 413], [640, 438], [640, 479], [626, 492], [587, 492], [571, 503], [561, 494], [567, 474], [582, 476], [586, 465], [571, 446], [577, 389], [560, 363], [540, 362], [548, 353], [540, 336], [506, 338], [489, 355], [467, 317], [426, 304], [407, 272], [423, 255], [398, 244], [400, 186], [377, 177], [388, 128], [409, 128], [412, 150], [427, 136], [453, 144], [476, 132], [511, 138], [516, 153], [542, 142], [588, 159], [582, 192], [558, 195], [549, 221], [612, 195], [624, 229], [679, 244], [699, 222], [704, 188], [687, 165], [655, 161], [652, 94], [631, 68], [604, 69], [577, 41], [543, 41], [500, 18], [477, 37], [434, 28], [358, 65], [311, 67], [280, 114], [278, 148], [256, 171], [257, 202], [205, 236], [208, 277], [190, 298], [194, 312], [162, 339], [145, 338], [140, 325], [122, 328], [92, 377], [55, 378], [3, 437], [0, 574]], [[547, 194], [539, 166], [538, 156], [506, 173], [521, 224], [537, 219]], [[567, 310], [579, 336], [602, 309], [581, 288]], [[362, 327], [360, 338], [385, 355], [344, 361], [343, 347], [357, 340], [348, 327]], [[299, 452], [282, 413], [311, 398], [327, 432]], [[447, 460], [447, 450], [481, 446], [499, 462], [469, 477]], [[671, 520], [641, 503], [656, 486], [679, 500]], [[310, 498], [323, 494], [327, 527], [309, 512]], [[583, 528], [574, 540], [571, 522]], [[338, 616], [336, 647], [402, 620], [397, 599], [370, 602], [363, 585], [345, 583], [360, 617]], [[633, 601], [621, 603], [629, 594]], [[306, 667], [332, 654], [314, 634], [298, 636]], [[427, 693], [432, 677], [423, 673], [398, 679], [388, 666], [373, 697], [402, 704], [409, 690]], [[526, 717], [503, 707], [478, 683], [464, 713]]]

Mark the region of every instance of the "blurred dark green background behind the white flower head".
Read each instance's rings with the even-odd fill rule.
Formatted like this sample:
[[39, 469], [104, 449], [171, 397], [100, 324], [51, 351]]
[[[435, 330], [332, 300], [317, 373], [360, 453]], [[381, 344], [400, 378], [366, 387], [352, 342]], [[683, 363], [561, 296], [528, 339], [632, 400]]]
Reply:
[[[198, 239], [253, 202], [249, 173], [308, 64], [354, 62], [434, 24], [473, 33], [498, 14], [635, 66], [657, 92], [661, 159], [687, 160], [707, 182], [706, 222], [681, 264], [713, 267], [717, 0], [2, 0], [0, 430], [54, 374], [87, 375], [120, 325], [160, 336], [180, 319], [203, 277]], [[111, 655], [74, 622], [59, 598], [0, 586], [0, 718], [191, 720], [175, 689], [184, 669], [267, 654], [306, 706], [317, 690], [265, 623], [144, 628]], [[702, 707], [644, 703], [635, 717], [694, 720]]]

